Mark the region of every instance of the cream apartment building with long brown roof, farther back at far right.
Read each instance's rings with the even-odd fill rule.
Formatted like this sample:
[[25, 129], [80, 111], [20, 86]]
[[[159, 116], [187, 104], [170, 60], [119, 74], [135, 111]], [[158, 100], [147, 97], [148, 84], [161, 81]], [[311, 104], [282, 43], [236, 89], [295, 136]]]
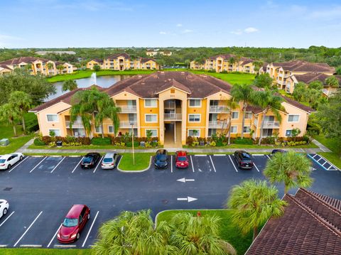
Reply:
[[312, 82], [313, 80], [325, 80], [335, 73], [335, 68], [326, 63], [309, 63], [303, 60], [295, 60], [283, 63], [270, 63], [266, 66], [266, 73], [276, 80], [278, 88], [292, 93], [295, 85], [301, 80]]

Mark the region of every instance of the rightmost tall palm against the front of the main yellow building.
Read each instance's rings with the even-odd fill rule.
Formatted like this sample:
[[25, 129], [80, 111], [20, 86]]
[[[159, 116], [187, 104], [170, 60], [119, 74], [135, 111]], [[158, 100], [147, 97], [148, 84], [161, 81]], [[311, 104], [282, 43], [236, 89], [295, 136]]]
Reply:
[[281, 121], [281, 114], [279, 114], [279, 111], [283, 109], [282, 102], [283, 98], [276, 96], [274, 92], [269, 90], [258, 90], [253, 95], [253, 102], [257, 106], [261, 107], [261, 112], [263, 113], [261, 116], [261, 134], [259, 136], [259, 142], [258, 145], [261, 145], [261, 139], [263, 139], [263, 128], [264, 128], [264, 121], [266, 114], [271, 110], [278, 119], [278, 121]]

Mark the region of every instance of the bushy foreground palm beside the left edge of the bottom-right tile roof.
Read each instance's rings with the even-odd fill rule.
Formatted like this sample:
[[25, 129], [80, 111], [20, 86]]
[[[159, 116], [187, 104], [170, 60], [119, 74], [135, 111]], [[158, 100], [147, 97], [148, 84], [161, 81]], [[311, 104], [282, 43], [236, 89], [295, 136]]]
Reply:
[[258, 235], [258, 227], [271, 216], [282, 215], [286, 202], [278, 199], [278, 190], [268, 186], [266, 180], [244, 180], [234, 185], [227, 206], [231, 208], [232, 222], [244, 234], [253, 229], [253, 239]]

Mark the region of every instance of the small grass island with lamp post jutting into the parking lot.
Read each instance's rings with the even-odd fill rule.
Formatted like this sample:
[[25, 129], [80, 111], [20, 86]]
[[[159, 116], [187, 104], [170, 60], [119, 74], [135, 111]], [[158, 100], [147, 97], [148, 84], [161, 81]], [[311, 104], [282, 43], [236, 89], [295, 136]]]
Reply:
[[135, 165], [133, 165], [133, 153], [122, 153], [119, 169], [144, 170], [148, 168], [152, 153], [135, 153]]

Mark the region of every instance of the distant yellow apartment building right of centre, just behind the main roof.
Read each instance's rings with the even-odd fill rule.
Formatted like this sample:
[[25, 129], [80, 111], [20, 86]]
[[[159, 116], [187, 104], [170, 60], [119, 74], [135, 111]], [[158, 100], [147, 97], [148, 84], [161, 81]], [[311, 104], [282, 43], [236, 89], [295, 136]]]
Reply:
[[203, 63], [190, 62], [193, 70], [215, 70], [215, 72], [247, 72], [255, 73], [254, 60], [250, 58], [237, 57], [232, 54], [215, 55], [206, 59]]

